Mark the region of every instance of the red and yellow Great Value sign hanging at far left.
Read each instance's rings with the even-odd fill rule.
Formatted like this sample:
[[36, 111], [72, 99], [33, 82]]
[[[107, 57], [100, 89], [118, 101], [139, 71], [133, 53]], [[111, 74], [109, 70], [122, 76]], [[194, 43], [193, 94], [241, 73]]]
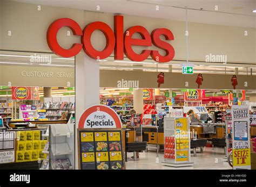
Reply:
[[12, 100], [39, 100], [38, 87], [12, 87]]

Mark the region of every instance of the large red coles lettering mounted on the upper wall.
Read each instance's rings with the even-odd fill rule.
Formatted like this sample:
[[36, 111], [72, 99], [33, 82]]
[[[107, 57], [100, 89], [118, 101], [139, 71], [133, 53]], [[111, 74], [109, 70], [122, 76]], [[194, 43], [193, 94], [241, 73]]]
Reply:
[[[69, 27], [74, 35], [81, 37], [80, 44], [73, 44], [70, 49], [62, 48], [57, 41], [57, 33], [62, 27]], [[106, 38], [106, 46], [103, 51], [97, 51], [91, 44], [91, 35], [94, 31], [103, 32]], [[138, 33], [142, 39], [132, 38]], [[131, 61], [144, 61], [150, 55], [156, 62], [169, 62], [174, 57], [174, 48], [168, 42], [160, 40], [163, 35], [165, 40], [174, 40], [173, 34], [167, 28], [157, 28], [151, 34], [143, 26], [132, 26], [124, 32], [123, 16], [114, 16], [114, 31], [102, 21], [95, 21], [82, 28], [70, 18], [60, 18], [49, 26], [47, 31], [47, 42], [51, 51], [56, 55], [71, 57], [77, 55], [83, 48], [84, 52], [92, 59], [105, 59], [114, 51], [114, 60], [123, 60], [124, 54]], [[157, 50], [145, 49], [140, 54], [133, 51], [132, 46], [149, 47], [152, 44], [165, 51], [160, 55]]]

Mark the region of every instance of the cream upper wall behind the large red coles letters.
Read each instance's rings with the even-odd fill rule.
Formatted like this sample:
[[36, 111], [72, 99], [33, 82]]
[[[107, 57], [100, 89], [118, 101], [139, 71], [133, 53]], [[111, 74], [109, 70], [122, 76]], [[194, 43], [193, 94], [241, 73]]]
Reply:
[[[2, 49], [23, 51], [49, 52], [46, 44], [46, 31], [52, 21], [68, 17], [84, 28], [92, 21], [103, 21], [113, 28], [113, 15], [111, 13], [89, 12], [68, 8], [56, 8], [41, 6], [37, 10], [36, 4], [26, 4], [2, 1]], [[184, 15], [185, 19], [185, 15]], [[189, 19], [188, 19], [189, 20]], [[174, 34], [171, 42], [176, 54], [174, 59], [185, 60], [185, 22], [169, 19], [146, 18], [136, 16], [124, 16], [124, 29], [130, 26], [142, 25], [151, 32], [154, 28], [169, 28]], [[234, 26], [219, 26], [210, 24], [189, 23], [189, 59], [205, 60], [207, 54], [225, 54], [228, 61], [255, 62], [255, 28], [243, 28]], [[248, 32], [245, 37], [244, 31]], [[8, 37], [8, 31], [12, 36]], [[60, 44], [69, 48], [72, 42], [79, 42], [79, 37], [66, 35], [68, 28], [62, 28], [58, 33]], [[102, 33], [93, 34], [93, 45], [97, 49], [103, 49], [105, 44]], [[154, 47], [150, 47], [154, 48]], [[135, 51], [140, 51], [134, 47]]]

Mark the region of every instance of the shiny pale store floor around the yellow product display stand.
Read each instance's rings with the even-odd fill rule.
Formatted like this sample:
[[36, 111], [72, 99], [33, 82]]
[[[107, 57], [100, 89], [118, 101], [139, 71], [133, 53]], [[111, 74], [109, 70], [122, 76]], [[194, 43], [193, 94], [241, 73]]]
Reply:
[[[197, 149], [199, 151], [199, 149]], [[133, 153], [128, 153], [131, 157]], [[194, 162], [193, 167], [169, 167], [163, 166], [161, 161], [164, 161], [164, 153], [159, 153], [159, 162], [157, 163], [155, 151], [140, 153], [140, 158], [136, 161], [128, 159], [126, 162], [126, 169], [232, 169], [227, 161], [223, 159], [224, 148], [210, 148], [206, 147], [204, 153], [197, 153], [193, 156], [191, 153], [191, 162]]]

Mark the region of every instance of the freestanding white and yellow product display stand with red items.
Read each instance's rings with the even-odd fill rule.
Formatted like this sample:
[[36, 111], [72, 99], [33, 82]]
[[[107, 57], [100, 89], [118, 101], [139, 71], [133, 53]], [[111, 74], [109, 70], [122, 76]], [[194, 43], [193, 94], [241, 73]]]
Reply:
[[190, 126], [188, 118], [164, 119], [164, 166], [193, 166], [190, 161]]

